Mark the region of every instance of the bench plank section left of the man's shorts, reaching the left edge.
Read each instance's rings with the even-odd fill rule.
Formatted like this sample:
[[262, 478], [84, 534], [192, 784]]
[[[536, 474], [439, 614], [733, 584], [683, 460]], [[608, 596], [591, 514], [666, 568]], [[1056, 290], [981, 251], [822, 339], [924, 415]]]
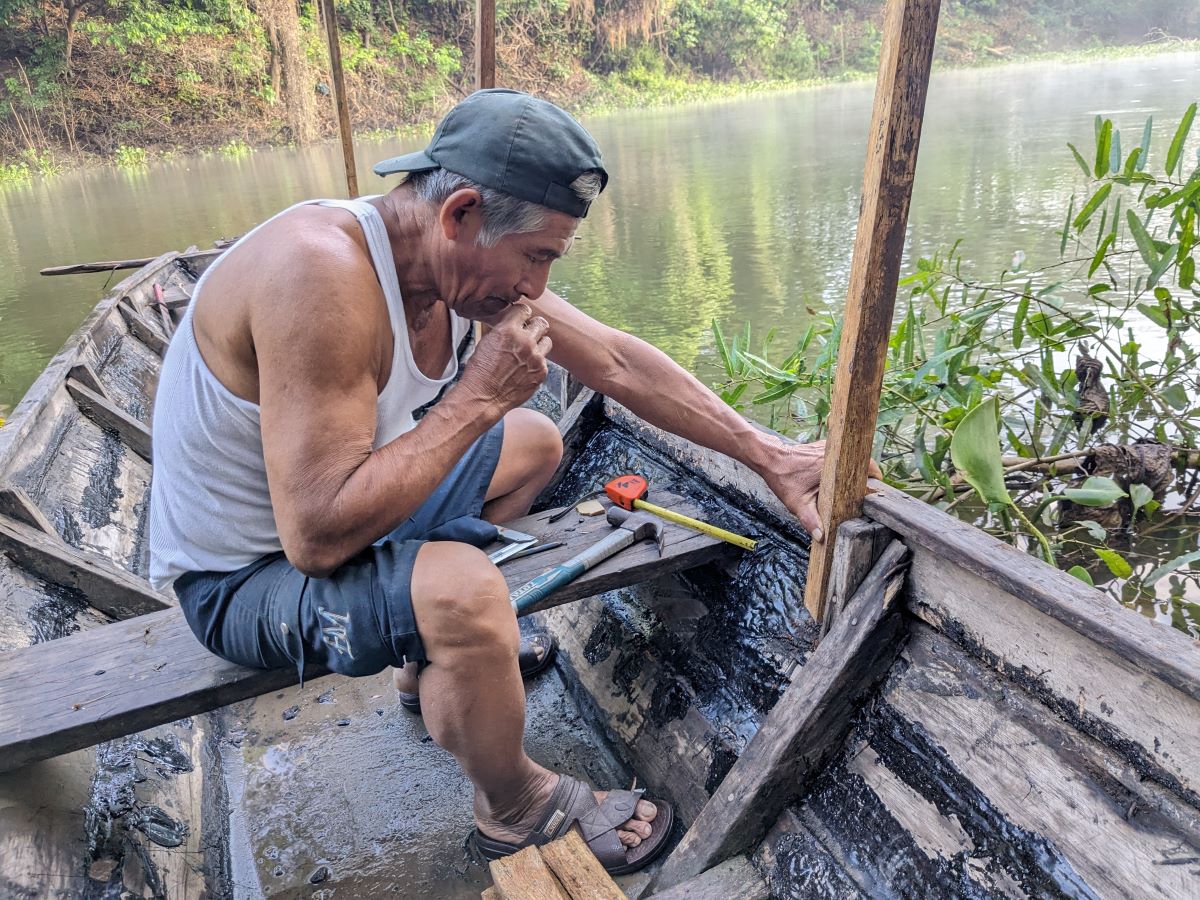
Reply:
[[11, 650], [0, 654], [0, 772], [298, 680], [212, 655], [178, 607]]

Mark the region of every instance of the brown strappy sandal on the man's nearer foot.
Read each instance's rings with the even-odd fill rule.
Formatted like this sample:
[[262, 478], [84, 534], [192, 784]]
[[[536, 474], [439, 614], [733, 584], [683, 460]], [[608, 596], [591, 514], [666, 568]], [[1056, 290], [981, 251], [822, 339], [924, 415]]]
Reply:
[[521, 844], [488, 838], [478, 828], [472, 832], [469, 842], [485, 859], [498, 859], [528, 846], [550, 844], [577, 824], [588, 848], [595, 853], [605, 870], [610, 875], [628, 875], [649, 865], [662, 852], [671, 836], [671, 826], [674, 824], [671, 804], [650, 800], [658, 808], [658, 815], [650, 822], [650, 836], [636, 847], [622, 844], [617, 836], [617, 827], [634, 817], [634, 810], [643, 793], [641, 788], [610, 791], [602, 803], [596, 803], [595, 794], [586, 784], [570, 775], [559, 775], [541, 818]]

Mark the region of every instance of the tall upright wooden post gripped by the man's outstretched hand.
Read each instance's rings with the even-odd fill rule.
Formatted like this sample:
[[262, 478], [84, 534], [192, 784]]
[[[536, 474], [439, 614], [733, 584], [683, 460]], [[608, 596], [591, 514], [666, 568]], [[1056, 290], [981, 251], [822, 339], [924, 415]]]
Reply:
[[830, 540], [812, 545], [804, 590], [804, 604], [817, 622], [827, 601], [832, 536], [842, 522], [859, 515], [866, 491], [864, 473], [875, 440], [938, 7], [940, 0], [889, 0], [883, 24], [863, 200], [817, 498], [821, 523]]

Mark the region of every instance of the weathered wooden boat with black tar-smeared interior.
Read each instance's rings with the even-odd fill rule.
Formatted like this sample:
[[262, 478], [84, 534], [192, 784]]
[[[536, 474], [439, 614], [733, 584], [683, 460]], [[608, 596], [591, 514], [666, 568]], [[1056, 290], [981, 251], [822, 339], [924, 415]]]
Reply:
[[[0, 895], [478, 895], [468, 787], [384, 677], [224, 664], [143, 580], [161, 353], [216, 256], [118, 284], [0, 428]], [[538, 613], [562, 650], [530, 752], [636, 773], [688, 828], [631, 895], [1200, 895], [1186, 635], [888, 488], [818, 626], [756, 476], [560, 372], [535, 401], [566, 448], [535, 509], [638, 470], [762, 542], [674, 530]]]

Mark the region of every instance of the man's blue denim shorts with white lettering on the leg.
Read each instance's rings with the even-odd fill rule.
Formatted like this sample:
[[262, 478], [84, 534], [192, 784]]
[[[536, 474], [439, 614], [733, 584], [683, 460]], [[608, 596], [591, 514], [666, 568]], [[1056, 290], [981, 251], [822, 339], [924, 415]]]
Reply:
[[187, 572], [175, 594], [208, 649], [253, 668], [295, 666], [368, 676], [424, 662], [410, 594], [413, 565], [430, 540], [485, 546], [496, 526], [479, 518], [504, 443], [504, 421], [476, 440], [413, 516], [326, 578], [301, 574], [280, 553], [234, 572]]

